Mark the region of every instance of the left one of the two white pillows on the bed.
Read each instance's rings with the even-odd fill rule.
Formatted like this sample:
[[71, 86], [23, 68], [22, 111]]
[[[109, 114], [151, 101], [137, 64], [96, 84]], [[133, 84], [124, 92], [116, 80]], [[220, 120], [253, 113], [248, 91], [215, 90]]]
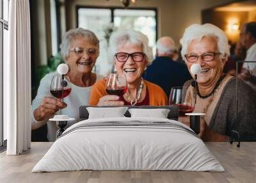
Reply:
[[89, 119], [125, 117], [128, 107], [86, 107]]

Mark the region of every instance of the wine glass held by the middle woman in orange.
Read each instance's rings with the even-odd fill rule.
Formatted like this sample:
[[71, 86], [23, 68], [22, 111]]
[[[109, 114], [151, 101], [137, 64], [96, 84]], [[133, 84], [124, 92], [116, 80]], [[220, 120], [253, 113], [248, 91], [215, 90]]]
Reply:
[[109, 95], [123, 96], [127, 92], [127, 81], [124, 75], [109, 74], [106, 82], [106, 92]]

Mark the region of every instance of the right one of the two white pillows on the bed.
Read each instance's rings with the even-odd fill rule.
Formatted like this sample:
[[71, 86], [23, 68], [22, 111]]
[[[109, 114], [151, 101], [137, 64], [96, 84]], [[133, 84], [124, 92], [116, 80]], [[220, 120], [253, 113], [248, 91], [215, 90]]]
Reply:
[[131, 118], [150, 117], [150, 118], [167, 118], [170, 109], [128, 109]]

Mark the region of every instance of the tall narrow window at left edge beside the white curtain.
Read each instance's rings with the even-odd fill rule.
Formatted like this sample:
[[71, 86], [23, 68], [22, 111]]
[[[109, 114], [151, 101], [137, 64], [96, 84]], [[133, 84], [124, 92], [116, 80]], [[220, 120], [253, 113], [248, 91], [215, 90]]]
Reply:
[[3, 63], [7, 60], [9, 0], [0, 0], [0, 146], [7, 139], [6, 123], [3, 121]]

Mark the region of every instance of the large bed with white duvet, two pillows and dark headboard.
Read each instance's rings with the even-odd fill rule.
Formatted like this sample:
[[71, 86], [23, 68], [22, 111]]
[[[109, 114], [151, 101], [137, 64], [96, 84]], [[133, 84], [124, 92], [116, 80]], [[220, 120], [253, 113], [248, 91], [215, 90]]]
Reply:
[[[94, 111], [94, 114], [89, 112], [91, 116], [96, 116], [90, 118], [88, 111], [91, 108], [93, 111], [104, 111]], [[156, 115], [159, 114], [157, 110], [161, 109], [170, 109], [164, 111], [166, 118], [161, 116], [163, 114]], [[177, 119], [179, 114], [176, 106], [129, 107], [128, 110], [122, 111], [123, 116], [116, 116], [118, 112], [111, 113], [113, 109], [110, 107], [81, 106], [79, 110], [81, 122], [63, 132], [32, 172], [225, 171], [195, 132], [173, 120]], [[105, 113], [105, 116], [101, 116], [102, 113]], [[146, 116], [140, 116], [145, 114]]]

